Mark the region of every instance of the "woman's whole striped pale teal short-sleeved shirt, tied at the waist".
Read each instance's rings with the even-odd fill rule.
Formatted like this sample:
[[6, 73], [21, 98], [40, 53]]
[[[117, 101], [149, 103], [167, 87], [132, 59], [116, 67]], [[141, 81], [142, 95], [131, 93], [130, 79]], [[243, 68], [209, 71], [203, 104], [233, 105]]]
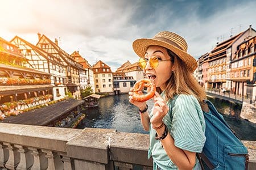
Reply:
[[[161, 94], [164, 96], [164, 93]], [[171, 109], [171, 103], [167, 102]], [[152, 109], [153, 111], [153, 109]], [[151, 111], [150, 117], [153, 112]], [[174, 145], [182, 150], [191, 152], [201, 152], [205, 143], [205, 122], [203, 111], [199, 101], [193, 95], [179, 95], [176, 99], [174, 108], [172, 108], [172, 121], [170, 112], [163, 118], [164, 124], [168, 126]], [[177, 166], [164, 151], [160, 141], [155, 140], [156, 131], [150, 128], [150, 148], [148, 150], [148, 159], [152, 156], [154, 160], [154, 169], [156, 165], [161, 169], [177, 169]], [[196, 160], [193, 169], [200, 169], [199, 161]]]

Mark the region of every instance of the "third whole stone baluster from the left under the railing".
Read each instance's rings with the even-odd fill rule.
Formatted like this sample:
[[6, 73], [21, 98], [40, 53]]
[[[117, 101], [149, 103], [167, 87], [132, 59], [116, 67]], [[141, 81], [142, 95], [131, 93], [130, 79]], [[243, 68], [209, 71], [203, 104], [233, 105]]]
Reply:
[[34, 163], [31, 170], [46, 169], [48, 167], [48, 162], [45, 156], [46, 153], [37, 148], [28, 147], [28, 149], [32, 151], [31, 154], [34, 156]]

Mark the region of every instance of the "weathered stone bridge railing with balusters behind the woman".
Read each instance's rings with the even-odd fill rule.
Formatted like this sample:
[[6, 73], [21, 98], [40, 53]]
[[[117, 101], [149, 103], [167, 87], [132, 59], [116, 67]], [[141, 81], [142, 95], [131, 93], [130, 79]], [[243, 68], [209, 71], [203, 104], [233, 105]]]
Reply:
[[147, 134], [0, 123], [0, 169], [152, 169], [148, 145]]

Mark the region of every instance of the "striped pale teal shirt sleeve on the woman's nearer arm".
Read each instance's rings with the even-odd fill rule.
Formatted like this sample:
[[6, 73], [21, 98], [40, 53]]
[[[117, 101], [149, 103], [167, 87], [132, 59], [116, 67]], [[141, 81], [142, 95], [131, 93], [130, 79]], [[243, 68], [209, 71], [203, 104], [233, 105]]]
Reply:
[[[201, 152], [205, 143], [204, 117], [195, 96], [180, 95], [172, 108], [171, 135], [174, 145], [191, 152]], [[201, 120], [200, 120], [201, 119]]]

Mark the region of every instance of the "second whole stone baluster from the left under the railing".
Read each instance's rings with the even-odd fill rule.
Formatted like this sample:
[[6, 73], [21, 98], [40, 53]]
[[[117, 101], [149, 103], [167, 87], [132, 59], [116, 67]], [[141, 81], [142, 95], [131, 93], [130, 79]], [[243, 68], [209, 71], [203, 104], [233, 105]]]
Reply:
[[27, 147], [21, 145], [14, 145], [18, 148], [18, 152], [20, 154], [20, 162], [18, 164], [17, 170], [21, 169], [29, 169], [33, 165], [33, 156], [31, 155], [31, 150], [28, 150]]

